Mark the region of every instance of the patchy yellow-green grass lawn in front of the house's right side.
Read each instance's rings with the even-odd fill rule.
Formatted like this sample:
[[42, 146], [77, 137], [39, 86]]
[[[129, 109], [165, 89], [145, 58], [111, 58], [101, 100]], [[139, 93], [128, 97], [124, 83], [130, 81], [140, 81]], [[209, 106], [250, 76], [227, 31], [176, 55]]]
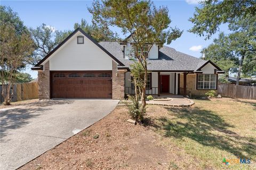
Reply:
[[[256, 102], [237, 99], [194, 101], [196, 105], [191, 108], [165, 108], [167, 115], [156, 118], [157, 132], [167, 142], [199, 159], [202, 168], [227, 168], [221, 164], [223, 158], [246, 158], [255, 163]], [[228, 168], [250, 169], [252, 166], [238, 164]]]

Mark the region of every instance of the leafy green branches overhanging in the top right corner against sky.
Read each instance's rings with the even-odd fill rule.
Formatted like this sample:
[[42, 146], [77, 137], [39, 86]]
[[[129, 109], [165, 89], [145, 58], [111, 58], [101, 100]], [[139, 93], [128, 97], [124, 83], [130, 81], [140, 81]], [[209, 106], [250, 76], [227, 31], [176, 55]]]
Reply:
[[[246, 29], [255, 23], [256, 20], [256, 1], [201, 1], [196, 7], [194, 16], [189, 19], [194, 26], [189, 30], [199, 36], [210, 38], [219, 30], [219, 26], [227, 23], [232, 31]], [[240, 26], [237, 27], [237, 23]], [[243, 25], [241, 25], [243, 23]]]

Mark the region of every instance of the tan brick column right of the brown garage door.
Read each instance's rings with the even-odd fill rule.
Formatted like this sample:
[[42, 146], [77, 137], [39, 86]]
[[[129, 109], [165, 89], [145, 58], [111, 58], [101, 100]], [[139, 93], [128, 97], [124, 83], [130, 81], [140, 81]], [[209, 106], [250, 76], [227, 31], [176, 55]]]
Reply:
[[112, 62], [112, 99], [124, 99], [124, 70], [117, 70], [117, 64]]

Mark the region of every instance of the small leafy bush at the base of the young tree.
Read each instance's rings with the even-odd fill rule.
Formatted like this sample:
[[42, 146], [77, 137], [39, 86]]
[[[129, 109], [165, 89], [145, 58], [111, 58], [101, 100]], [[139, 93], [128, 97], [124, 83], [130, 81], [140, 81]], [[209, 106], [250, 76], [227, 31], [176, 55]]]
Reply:
[[133, 120], [136, 122], [142, 122], [146, 115], [146, 108], [143, 108], [139, 101], [136, 101], [134, 96], [128, 97], [131, 102], [126, 102], [128, 112]]

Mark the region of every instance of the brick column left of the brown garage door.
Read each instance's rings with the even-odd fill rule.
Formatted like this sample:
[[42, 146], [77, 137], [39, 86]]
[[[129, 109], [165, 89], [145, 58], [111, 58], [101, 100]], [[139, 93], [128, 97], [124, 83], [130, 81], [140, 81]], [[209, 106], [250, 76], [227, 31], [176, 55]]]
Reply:
[[50, 64], [44, 64], [44, 71], [38, 71], [38, 98], [50, 99]]

